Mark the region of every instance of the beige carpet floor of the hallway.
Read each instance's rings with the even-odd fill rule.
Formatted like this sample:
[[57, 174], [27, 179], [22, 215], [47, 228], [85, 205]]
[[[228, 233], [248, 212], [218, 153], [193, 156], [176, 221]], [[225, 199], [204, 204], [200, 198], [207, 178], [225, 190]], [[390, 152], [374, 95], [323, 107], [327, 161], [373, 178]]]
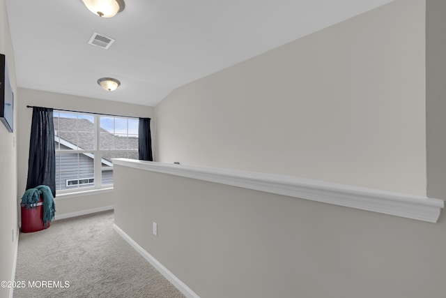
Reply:
[[105, 211], [21, 233], [15, 281], [24, 288], [14, 297], [184, 297], [113, 223], [113, 212]]

